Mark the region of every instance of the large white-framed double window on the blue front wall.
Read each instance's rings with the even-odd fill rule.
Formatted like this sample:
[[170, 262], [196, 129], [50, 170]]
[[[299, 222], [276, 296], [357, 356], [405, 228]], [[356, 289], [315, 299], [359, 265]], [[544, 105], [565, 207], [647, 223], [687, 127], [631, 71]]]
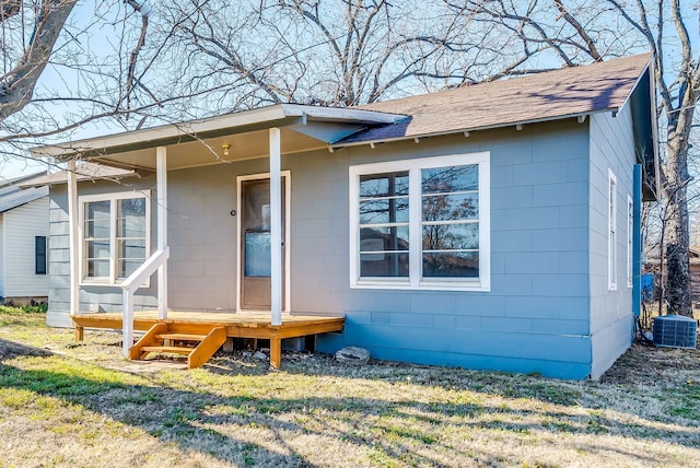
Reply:
[[350, 167], [351, 285], [489, 290], [489, 153]]

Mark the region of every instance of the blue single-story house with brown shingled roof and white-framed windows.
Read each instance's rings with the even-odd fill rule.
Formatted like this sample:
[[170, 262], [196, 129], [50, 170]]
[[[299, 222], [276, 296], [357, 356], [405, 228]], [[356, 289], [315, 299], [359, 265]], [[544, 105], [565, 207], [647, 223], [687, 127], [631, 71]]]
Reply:
[[596, 378], [633, 337], [639, 207], [657, 192], [651, 67], [37, 148], [130, 173], [51, 186], [48, 323], [122, 312], [127, 352], [135, 309], [342, 316], [316, 349]]

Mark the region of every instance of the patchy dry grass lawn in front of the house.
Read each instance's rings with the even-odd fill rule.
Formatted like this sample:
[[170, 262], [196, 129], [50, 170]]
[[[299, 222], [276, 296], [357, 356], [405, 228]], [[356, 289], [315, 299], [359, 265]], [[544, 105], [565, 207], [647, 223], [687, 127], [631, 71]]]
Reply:
[[119, 336], [0, 314], [2, 467], [700, 467], [700, 352], [600, 382], [287, 355], [127, 362]]

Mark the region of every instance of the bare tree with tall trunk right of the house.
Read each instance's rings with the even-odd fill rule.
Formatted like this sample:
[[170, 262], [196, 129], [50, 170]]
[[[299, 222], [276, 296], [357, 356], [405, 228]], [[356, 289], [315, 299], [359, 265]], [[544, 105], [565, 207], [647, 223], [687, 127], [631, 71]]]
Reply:
[[470, 22], [495, 25], [520, 40], [509, 50], [514, 67], [505, 74], [600, 61], [651, 50], [665, 133], [662, 191], [666, 198], [665, 249], [669, 313], [691, 315], [689, 253], [689, 138], [700, 96], [700, 62], [687, 21], [697, 11], [680, 0], [447, 0]]

